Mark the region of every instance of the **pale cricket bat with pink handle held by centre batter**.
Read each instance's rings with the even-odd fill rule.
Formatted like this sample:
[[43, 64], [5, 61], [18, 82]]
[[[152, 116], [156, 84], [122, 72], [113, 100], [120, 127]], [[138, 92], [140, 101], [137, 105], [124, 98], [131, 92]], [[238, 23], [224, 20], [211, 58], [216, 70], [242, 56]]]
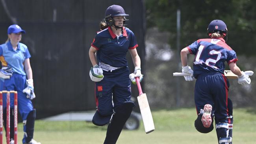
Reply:
[[139, 96], [137, 96], [139, 109], [141, 110], [141, 117], [144, 124], [145, 132], [150, 133], [155, 130], [154, 121], [148, 104], [147, 95], [142, 92], [139, 78], [136, 77], [137, 87], [139, 89]]

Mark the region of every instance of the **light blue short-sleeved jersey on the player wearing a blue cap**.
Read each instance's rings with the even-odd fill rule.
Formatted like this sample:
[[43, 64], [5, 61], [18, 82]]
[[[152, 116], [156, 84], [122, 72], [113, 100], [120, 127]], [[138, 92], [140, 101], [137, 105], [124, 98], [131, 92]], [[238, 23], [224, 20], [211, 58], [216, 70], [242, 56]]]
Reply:
[[25, 59], [30, 57], [28, 47], [25, 44], [19, 42], [17, 50], [13, 50], [10, 41], [0, 45], [0, 61], [2, 66], [11, 67], [13, 72], [17, 72], [23, 76], [26, 76], [23, 63]]

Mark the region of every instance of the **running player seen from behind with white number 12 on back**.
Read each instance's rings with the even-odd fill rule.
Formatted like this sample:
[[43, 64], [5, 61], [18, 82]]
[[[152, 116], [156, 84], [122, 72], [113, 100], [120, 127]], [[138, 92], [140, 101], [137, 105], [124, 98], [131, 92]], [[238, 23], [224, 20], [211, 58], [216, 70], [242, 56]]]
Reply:
[[[219, 144], [232, 144], [233, 106], [228, 98], [229, 81], [224, 76], [226, 61], [230, 70], [238, 76], [241, 85], [250, 84], [250, 78], [236, 65], [236, 52], [226, 44], [227, 27], [222, 20], [210, 22], [209, 39], [198, 39], [180, 52], [182, 72], [186, 81], [195, 83], [197, 120], [195, 128], [200, 133], [213, 130], [213, 117]], [[194, 54], [193, 70], [187, 64], [187, 55]]]

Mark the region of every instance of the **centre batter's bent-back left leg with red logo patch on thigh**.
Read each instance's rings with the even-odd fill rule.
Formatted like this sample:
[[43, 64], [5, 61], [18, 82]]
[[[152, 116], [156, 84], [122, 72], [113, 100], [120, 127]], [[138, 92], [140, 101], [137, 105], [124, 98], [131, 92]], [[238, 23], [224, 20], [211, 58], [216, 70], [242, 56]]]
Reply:
[[93, 124], [104, 126], [109, 123], [113, 114], [112, 91], [113, 82], [104, 71], [104, 79], [95, 83], [95, 101], [97, 110], [93, 116]]

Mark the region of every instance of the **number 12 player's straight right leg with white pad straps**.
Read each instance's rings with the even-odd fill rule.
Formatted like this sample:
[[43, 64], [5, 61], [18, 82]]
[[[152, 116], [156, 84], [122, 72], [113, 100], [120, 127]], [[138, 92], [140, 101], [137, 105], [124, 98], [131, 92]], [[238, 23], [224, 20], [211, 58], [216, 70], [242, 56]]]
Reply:
[[219, 144], [232, 144], [232, 127], [233, 127], [233, 106], [230, 99], [228, 99], [229, 82], [224, 76], [219, 75], [215, 77], [216, 83], [214, 94], [215, 124], [216, 133]]

